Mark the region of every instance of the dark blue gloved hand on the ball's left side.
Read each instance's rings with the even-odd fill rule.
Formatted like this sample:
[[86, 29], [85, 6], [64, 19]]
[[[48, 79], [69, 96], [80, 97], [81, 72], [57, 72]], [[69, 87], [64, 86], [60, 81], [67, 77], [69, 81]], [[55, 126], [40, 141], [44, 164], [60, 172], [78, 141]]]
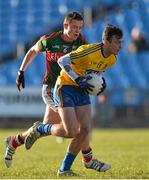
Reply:
[[87, 77], [78, 77], [75, 79], [75, 82], [79, 85], [81, 89], [83, 89], [85, 92], [88, 93], [88, 90], [93, 91], [92, 88], [94, 88], [93, 85], [88, 83], [88, 80], [92, 79], [91, 76]]

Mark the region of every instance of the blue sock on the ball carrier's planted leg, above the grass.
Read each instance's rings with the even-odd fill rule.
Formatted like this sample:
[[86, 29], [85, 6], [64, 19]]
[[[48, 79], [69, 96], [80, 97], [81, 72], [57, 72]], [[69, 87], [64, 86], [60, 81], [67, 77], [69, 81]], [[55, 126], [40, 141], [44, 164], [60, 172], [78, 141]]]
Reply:
[[75, 158], [76, 155], [67, 152], [61, 164], [60, 171], [69, 171]]

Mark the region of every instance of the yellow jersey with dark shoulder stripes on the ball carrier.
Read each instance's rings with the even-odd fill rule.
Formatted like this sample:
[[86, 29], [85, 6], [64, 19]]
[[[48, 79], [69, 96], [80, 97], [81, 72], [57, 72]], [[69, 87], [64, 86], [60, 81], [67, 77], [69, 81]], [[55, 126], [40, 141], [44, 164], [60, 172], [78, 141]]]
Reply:
[[[82, 45], [70, 54], [71, 68], [79, 76], [85, 76], [88, 71], [96, 71], [99, 74], [106, 71], [116, 62], [116, 56], [110, 55], [105, 58], [102, 53], [102, 43]], [[58, 77], [59, 85], [77, 85], [62, 70]]]

